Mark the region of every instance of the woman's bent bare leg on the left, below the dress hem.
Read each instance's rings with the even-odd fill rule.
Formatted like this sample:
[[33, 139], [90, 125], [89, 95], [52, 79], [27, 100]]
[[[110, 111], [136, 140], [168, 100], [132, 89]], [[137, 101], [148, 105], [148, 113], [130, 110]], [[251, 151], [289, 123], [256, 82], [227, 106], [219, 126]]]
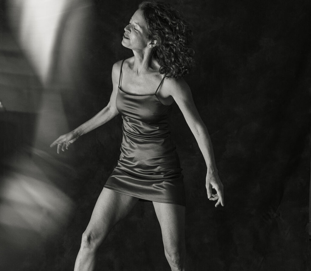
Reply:
[[137, 203], [138, 198], [103, 188], [95, 204], [91, 220], [82, 234], [74, 271], [95, 269], [96, 252], [111, 228], [123, 219]]

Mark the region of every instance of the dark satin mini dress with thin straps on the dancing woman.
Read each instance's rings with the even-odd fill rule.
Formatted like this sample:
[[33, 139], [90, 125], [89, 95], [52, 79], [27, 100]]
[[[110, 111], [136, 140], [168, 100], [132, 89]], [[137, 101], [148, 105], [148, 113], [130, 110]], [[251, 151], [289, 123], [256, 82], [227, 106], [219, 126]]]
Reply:
[[156, 96], [165, 77], [153, 94], [128, 93], [120, 88], [123, 62], [116, 97], [123, 118], [121, 154], [104, 187], [142, 201], [186, 206], [182, 168], [169, 131], [172, 105]]

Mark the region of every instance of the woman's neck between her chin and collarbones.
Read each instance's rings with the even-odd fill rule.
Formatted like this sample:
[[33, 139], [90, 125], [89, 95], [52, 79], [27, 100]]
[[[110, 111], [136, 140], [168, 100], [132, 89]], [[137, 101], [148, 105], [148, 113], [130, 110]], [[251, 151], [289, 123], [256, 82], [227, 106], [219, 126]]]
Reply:
[[150, 69], [154, 68], [154, 60], [152, 59], [152, 50], [133, 50], [134, 53], [134, 66], [133, 71], [135, 74], [145, 74]]

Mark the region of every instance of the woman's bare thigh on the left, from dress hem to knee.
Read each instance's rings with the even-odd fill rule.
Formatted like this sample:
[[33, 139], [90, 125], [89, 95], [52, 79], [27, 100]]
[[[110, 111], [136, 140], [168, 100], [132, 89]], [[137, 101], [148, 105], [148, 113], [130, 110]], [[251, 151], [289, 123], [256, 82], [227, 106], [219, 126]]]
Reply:
[[95, 239], [103, 240], [110, 229], [131, 211], [137, 201], [137, 197], [124, 195], [104, 187], [85, 232]]

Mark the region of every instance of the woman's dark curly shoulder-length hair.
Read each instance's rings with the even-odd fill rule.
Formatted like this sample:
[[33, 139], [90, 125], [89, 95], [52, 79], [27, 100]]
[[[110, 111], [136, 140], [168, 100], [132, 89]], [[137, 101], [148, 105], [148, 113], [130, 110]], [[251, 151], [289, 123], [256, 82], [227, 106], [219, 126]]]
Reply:
[[148, 39], [157, 41], [152, 57], [160, 64], [160, 74], [185, 77], [194, 62], [194, 51], [188, 48], [193, 35], [188, 22], [179, 11], [164, 2], [144, 1], [138, 8], [149, 29]]

